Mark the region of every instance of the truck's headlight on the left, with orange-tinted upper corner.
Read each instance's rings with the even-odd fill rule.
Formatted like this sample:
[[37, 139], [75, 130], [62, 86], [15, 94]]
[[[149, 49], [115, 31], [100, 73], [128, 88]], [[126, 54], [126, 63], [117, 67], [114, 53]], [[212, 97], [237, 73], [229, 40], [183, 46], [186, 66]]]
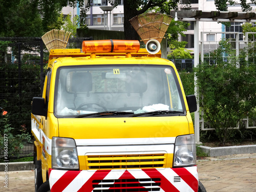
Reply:
[[52, 168], [79, 169], [74, 139], [62, 137], [52, 138]]

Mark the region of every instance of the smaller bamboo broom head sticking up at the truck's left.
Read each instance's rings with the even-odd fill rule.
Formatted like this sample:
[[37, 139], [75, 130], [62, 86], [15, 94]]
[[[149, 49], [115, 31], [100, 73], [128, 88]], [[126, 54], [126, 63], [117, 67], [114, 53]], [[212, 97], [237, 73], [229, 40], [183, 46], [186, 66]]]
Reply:
[[53, 29], [42, 36], [42, 41], [49, 52], [51, 49], [65, 49], [70, 34], [69, 31]]

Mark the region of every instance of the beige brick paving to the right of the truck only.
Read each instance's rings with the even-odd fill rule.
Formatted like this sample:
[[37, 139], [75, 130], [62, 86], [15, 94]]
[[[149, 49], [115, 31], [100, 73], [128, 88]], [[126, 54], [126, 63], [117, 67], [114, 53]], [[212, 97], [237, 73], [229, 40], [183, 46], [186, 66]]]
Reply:
[[256, 154], [227, 158], [197, 162], [199, 179], [207, 192], [256, 191]]

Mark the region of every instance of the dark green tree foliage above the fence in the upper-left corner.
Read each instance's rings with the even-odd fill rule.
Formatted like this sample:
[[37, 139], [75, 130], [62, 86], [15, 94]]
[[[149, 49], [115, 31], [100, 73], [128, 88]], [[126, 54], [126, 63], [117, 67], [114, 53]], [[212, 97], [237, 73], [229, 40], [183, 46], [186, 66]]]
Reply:
[[38, 37], [58, 29], [65, 6], [66, 0], [0, 0], [0, 36]]

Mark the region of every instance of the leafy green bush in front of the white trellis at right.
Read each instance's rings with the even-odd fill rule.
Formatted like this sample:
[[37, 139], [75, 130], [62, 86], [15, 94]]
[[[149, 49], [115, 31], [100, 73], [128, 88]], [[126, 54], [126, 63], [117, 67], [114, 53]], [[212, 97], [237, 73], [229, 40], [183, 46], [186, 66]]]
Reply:
[[[225, 144], [234, 136], [233, 127], [238, 122], [247, 114], [255, 115], [256, 65], [245, 62], [246, 51], [237, 57], [228, 41], [222, 40], [219, 45], [211, 54], [216, 65], [203, 62], [195, 72], [204, 121], [215, 128]], [[224, 54], [228, 56], [226, 60]]]

